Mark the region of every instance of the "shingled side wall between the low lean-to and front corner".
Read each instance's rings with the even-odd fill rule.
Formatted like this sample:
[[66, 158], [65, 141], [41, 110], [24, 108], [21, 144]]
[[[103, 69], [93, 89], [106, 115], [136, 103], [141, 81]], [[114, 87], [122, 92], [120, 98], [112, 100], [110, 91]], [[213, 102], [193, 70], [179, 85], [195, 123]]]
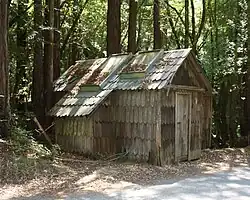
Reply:
[[131, 160], [148, 161], [155, 150], [158, 96], [153, 90], [112, 93], [95, 113], [96, 151], [127, 152]]

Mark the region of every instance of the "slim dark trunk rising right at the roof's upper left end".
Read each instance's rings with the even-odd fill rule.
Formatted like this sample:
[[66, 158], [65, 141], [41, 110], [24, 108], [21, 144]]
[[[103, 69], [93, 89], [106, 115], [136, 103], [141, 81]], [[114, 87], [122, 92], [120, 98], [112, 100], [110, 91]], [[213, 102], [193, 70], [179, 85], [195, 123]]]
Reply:
[[60, 3], [61, 0], [55, 0], [55, 31], [54, 31], [54, 60], [53, 60], [53, 80], [60, 76]]

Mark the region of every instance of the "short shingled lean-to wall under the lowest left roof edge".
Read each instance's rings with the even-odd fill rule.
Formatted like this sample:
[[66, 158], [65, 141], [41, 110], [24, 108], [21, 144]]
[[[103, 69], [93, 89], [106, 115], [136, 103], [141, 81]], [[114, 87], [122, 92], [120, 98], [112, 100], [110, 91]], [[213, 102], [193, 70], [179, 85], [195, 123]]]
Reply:
[[89, 154], [93, 150], [93, 121], [86, 117], [64, 117], [55, 121], [56, 142], [67, 152]]

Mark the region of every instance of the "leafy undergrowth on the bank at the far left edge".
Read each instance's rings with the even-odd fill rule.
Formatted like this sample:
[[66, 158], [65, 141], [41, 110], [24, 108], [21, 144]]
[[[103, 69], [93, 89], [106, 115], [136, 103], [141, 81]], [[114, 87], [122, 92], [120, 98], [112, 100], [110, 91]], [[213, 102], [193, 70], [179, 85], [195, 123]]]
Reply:
[[39, 143], [31, 131], [14, 127], [11, 138], [0, 141], [0, 184], [24, 183], [41, 174], [53, 173], [59, 148]]

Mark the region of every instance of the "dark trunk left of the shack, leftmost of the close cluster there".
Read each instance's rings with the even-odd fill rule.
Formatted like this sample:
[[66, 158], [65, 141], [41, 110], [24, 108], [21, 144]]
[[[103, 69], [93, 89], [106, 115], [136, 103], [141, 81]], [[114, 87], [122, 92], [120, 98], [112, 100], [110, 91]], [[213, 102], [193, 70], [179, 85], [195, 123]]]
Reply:
[[34, 68], [32, 85], [32, 102], [34, 113], [41, 124], [44, 124], [44, 68], [43, 68], [43, 43], [42, 43], [42, 0], [34, 0]]

